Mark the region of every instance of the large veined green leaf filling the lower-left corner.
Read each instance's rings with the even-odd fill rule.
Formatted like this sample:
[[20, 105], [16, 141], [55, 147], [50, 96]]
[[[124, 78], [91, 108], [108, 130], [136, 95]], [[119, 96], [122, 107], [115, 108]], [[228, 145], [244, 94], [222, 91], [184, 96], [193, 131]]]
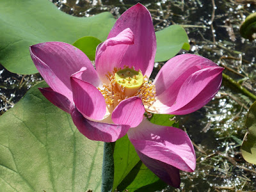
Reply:
[[100, 191], [103, 142], [31, 88], [0, 117], [0, 191]]

